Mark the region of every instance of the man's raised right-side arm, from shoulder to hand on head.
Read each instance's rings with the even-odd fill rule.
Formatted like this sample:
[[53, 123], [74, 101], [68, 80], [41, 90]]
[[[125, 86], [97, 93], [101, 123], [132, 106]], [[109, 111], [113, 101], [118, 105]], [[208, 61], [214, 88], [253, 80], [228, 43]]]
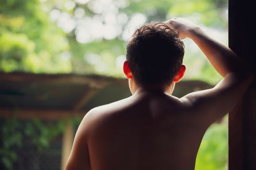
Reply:
[[188, 19], [173, 18], [166, 22], [177, 29], [181, 39], [191, 38], [224, 77], [212, 89], [190, 93], [181, 98], [210, 125], [228, 113], [241, 99], [253, 80], [253, 74], [231, 49], [208, 36]]

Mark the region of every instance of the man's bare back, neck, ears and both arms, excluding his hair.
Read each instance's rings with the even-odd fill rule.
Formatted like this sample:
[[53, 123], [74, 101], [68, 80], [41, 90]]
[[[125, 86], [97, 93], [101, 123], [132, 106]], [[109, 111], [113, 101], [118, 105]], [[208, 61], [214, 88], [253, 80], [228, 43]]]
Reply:
[[[182, 26], [192, 24], [187, 22], [177, 18], [168, 21], [180, 37], [192, 38], [225, 78], [212, 89], [178, 99], [171, 95], [174, 84], [165, 88], [138, 86], [129, 79], [132, 73], [125, 71], [124, 65], [133, 95], [86, 114], [76, 134], [67, 170], [195, 169], [205, 131], [232, 109], [253, 76], [240, 65], [233, 51], [201, 30], [194, 29], [191, 34], [182, 30]], [[233, 57], [233, 65], [228, 64], [226, 56]], [[241, 68], [236, 70], [238, 64]], [[182, 78], [183, 69], [174, 81]]]

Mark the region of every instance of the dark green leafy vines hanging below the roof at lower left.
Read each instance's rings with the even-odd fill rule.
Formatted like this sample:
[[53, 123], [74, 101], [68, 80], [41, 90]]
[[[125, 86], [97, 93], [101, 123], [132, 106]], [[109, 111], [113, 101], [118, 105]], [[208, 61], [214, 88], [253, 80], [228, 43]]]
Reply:
[[0, 124], [0, 138], [3, 140], [0, 142], [0, 164], [6, 170], [13, 170], [24, 140], [29, 139], [31, 148], [35, 147], [38, 152], [42, 152], [49, 147], [52, 139], [63, 134], [65, 123], [78, 125], [81, 119], [73, 117], [57, 122], [44, 122], [39, 119], [24, 121], [13, 117], [1, 121], [3, 123]]

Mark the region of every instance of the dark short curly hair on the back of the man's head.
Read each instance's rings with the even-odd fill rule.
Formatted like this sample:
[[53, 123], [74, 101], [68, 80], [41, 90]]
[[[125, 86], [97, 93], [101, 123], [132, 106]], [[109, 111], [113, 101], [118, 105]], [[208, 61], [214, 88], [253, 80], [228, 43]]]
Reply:
[[184, 44], [177, 30], [152, 21], [127, 41], [126, 60], [137, 85], [171, 85], [182, 64]]

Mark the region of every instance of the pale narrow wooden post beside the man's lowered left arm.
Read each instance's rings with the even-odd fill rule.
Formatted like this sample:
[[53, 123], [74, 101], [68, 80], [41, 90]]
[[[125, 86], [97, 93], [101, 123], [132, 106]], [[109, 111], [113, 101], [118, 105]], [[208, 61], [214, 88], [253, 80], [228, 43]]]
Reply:
[[66, 123], [65, 132], [62, 138], [61, 170], [65, 170], [69, 154], [72, 149], [74, 129], [70, 123]]

